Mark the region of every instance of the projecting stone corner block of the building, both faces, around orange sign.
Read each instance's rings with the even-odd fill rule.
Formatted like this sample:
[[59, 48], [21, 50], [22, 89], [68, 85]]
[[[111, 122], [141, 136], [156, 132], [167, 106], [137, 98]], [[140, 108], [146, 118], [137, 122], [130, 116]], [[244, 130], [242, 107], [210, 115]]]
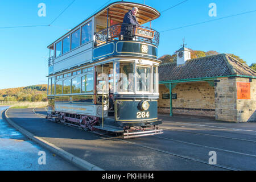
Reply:
[[[237, 82], [250, 83], [250, 99], [237, 98]], [[218, 78], [214, 81], [216, 120], [256, 121], [256, 80], [243, 77]]]

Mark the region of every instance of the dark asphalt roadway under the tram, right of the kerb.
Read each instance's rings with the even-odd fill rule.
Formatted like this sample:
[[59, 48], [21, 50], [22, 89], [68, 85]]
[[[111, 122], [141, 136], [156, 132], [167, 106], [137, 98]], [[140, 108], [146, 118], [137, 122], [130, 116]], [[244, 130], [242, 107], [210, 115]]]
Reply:
[[256, 123], [159, 115], [164, 134], [125, 140], [48, 121], [45, 109], [35, 113], [10, 109], [7, 115], [37, 137], [105, 170], [256, 169]]

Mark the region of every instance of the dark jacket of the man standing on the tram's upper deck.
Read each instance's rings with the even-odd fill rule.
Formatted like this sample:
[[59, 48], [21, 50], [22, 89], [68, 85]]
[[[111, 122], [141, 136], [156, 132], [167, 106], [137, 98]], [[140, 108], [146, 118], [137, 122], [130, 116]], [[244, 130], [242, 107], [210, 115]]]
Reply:
[[122, 24], [121, 35], [126, 35], [126, 36], [133, 35], [133, 29], [131, 28], [131, 26], [127, 24], [133, 25], [134, 28], [136, 26], [139, 26], [139, 23], [136, 17], [133, 15], [133, 13], [131, 13], [131, 10], [129, 10], [128, 13], [126, 13], [125, 16], [123, 17], [123, 23], [125, 24]]

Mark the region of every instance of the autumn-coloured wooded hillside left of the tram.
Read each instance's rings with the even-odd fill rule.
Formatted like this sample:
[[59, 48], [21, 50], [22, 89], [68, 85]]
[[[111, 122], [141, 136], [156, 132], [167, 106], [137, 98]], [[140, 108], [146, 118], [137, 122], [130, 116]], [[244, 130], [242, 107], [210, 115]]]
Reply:
[[1, 89], [0, 101], [47, 101], [47, 85]]

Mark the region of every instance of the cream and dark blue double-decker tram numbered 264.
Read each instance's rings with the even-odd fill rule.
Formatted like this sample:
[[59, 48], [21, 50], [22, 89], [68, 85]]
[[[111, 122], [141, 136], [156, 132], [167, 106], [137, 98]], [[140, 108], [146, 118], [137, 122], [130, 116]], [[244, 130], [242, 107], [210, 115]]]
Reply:
[[[133, 7], [141, 26], [123, 24]], [[47, 118], [124, 138], [162, 134], [159, 33], [151, 28], [159, 16], [147, 5], [114, 2], [50, 44]]]

